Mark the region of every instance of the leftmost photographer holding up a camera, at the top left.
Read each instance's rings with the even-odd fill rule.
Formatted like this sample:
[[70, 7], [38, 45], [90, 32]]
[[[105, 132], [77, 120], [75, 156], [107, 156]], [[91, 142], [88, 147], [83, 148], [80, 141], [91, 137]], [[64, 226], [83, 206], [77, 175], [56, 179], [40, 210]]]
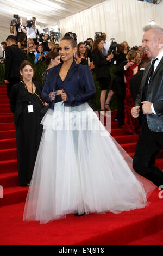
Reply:
[[12, 27], [12, 29], [10, 29], [10, 31], [12, 31], [12, 33], [15, 36], [16, 42], [18, 42], [20, 35], [21, 34], [26, 35], [27, 31], [26, 31], [26, 27], [22, 25], [22, 18], [15, 14], [14, 14], [14, 18], [15, 18], [15, 20], [11, 21], [10, 26], [11, 27], [13, 26], [13, 27]]

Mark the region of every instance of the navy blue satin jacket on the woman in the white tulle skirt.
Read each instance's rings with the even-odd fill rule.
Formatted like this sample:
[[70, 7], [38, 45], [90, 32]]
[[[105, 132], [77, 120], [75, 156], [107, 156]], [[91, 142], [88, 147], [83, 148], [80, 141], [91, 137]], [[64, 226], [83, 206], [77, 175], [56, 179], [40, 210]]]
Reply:
[[[48, 70], [45, 86], [42, 90], [42, 98], [49, 103], [49, 107], [54, 109], [55, 101], [49, 101], [49, 93], [56, 88], [57, 76], [62, 63]], [[64, 80], [64, 91], [67, 94], [65, 106], [79, 106], [92, 99], [95, 96], [95, 83], [89, 66], [77, 65], [73, 61], [67, 76]]]

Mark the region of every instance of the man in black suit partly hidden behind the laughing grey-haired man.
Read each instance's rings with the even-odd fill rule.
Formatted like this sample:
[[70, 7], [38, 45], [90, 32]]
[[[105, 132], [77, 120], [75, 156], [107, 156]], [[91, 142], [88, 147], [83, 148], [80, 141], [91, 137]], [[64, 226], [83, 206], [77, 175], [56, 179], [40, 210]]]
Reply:
[[140, 70], [130, 80], [130, 91], [131, 91], [131, 95], [133, 97], [134, 102], [136, 100], [137, 94], [139, 93], [140, 84], [144, 74], [145, 66], [150, 61], [151, 59], [148, 58], [147, 56], [143, 57], [140, 64], [141, 66]]

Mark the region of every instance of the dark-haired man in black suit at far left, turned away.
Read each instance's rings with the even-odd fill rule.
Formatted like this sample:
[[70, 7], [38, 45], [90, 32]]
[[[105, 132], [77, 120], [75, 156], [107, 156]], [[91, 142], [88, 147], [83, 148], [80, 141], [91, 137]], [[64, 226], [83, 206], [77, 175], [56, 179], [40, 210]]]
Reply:
[[26, 54], [17, 47], [13, 35], [6, 39], [7, 47], [5, 48], [5, 79], [7, 84], [7, 96], [10, 97], [10, 90], [13, 84], [20, 82], [20, 65], [26, 60]]

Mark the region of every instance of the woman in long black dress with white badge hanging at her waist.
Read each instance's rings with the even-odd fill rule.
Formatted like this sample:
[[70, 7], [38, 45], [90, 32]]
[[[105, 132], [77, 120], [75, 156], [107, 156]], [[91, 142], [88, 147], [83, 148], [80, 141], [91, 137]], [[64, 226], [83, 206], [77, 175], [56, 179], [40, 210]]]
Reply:
[[41, 84], [32, 80], [34, 69], [27, 60], [22, 62], [20, 74], [22, 81], [10, 92], [10, 107], [16, 128], [18, 177], [21, 186], [28, 186], [42, 135], [43, 101]]

